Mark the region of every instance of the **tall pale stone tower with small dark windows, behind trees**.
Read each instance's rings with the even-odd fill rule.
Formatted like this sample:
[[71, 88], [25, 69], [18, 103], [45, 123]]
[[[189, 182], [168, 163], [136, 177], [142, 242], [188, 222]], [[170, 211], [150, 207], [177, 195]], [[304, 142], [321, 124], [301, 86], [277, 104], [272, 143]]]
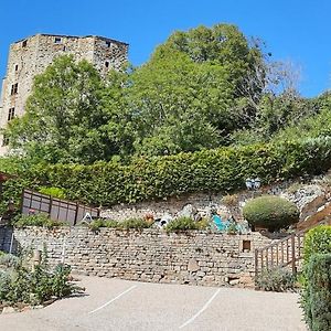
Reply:
[[[24, 114], [33, 77], [44, 72], [55, 56], [63, 54], [73, 54], [77, 61], [85, 58], [105, 75], [110, 68], [119, 70], [127, 61], [128, 44], [95, 35], [54, 34], [35, 34], [11, 44], [1, 89], [0, 128]], [[7, 145], [7, 139], [0, 135], [0, 156], [8, 151]]]

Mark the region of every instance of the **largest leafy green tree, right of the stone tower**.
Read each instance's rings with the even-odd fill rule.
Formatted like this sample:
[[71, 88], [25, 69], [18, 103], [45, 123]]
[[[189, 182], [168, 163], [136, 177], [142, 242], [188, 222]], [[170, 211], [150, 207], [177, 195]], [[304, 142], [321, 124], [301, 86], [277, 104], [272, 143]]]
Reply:
[[226, 143], [229, 132], [247, 125], [243, 113], [250, 110], [238, 107], [245, 97], [239, 87], [260, 61], [259, 50], [234, 25], [175, 32], [131, 76], [136, 151], [175, 153]]

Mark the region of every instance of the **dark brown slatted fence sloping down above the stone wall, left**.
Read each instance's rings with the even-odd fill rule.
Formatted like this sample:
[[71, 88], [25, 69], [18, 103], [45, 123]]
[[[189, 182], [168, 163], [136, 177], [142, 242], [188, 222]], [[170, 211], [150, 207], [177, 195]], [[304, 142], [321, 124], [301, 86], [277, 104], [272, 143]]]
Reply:
[[22, 193], [22, 214], [45, 213], [50, 218], [76, 225], [88, 213], [90, 217], [99, 217], [99, 210], [76, 202], [66, 201], [30, 190]]

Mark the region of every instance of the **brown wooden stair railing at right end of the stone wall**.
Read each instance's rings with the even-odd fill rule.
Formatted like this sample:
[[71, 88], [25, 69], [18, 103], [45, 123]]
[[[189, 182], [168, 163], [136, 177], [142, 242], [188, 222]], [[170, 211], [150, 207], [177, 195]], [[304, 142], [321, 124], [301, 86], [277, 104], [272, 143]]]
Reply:
[[331, 224], [331, 217], [296, 232], [276, 243], [255, 249], [255, 277], [265, 269], [288, 267], [295, 275], [303, 257], [305, 234], [320, 224]]

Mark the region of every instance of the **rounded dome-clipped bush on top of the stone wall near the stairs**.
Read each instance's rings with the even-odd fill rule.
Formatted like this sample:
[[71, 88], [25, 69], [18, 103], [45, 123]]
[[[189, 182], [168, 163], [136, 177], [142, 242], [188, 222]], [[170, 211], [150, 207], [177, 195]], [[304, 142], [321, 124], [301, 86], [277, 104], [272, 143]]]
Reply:
[[277, 231], [299, 221], [299, 211], [292, 202], [276, 195], [253, 199], [243, 209], [250, 225]]

